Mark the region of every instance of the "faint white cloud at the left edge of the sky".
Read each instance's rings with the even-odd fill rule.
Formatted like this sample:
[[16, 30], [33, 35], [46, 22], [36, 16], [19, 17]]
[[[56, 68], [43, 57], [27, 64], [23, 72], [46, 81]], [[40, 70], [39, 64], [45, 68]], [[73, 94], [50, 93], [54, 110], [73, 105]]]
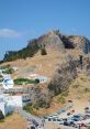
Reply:
[[21, 32], [16, 32], [11, 29], [0, 29], [0, 36], [1, 37], [20, 37], [22, 35]]

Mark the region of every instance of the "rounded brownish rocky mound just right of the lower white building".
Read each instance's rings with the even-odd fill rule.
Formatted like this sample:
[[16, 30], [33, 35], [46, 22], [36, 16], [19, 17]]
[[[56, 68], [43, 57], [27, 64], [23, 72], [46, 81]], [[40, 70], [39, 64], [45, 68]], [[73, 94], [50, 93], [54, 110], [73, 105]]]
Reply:
[[48, 89], [41, 89], [40, 85], [32, 86], [29, 90], [31, 101], [38, 108], [47, 108], [50, 104], [50, 96]]

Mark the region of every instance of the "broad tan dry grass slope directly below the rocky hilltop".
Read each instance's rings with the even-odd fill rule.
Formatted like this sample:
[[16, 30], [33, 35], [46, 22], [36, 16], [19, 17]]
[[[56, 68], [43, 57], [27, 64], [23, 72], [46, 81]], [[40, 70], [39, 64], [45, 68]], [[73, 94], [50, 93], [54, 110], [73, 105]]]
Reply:
[[46, 75], [48, 77], [53, 76], [59, 63], [65, 61], [65, 54], [58, 51], [47, 51], [47, 55], [41, 55], [38, 52], [34, 57], [26, 60], [18, 60], [14, 62], [9, 62], [5, 64], [11, 64], [12, 66], [18, 66], [19, 71], [13, 74], [13, 77], [18, 76], [29, 76], [31, 73], [36, 73], [41, 75]]

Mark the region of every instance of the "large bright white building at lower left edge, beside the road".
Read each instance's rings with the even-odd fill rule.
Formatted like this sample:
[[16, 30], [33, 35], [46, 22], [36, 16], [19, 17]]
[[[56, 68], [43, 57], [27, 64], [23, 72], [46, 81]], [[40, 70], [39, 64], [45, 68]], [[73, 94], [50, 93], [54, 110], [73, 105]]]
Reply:
[[8, 94], [0, 95], [0, 110], [5, 116], [12, 112], [15, 108], [22, 108], [23, 106], [31, 103], [29, 94], [9, 96]]

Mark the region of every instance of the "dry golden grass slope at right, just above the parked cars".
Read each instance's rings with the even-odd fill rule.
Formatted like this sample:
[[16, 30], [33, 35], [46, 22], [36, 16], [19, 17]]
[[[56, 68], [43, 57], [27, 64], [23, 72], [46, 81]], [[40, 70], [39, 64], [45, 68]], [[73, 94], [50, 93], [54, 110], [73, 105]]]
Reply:
[[[78, 87], [74, 87], [75, 85], [78, 85]], [[78, 78], [76, 78], [75, 82], [69, 87], [68, 94], [58, 95], [53, 98], [50, 108], [48, 109], [40, 109], [37, 111], [38, 115], [49, 115], [53, 112], [56, 112], [58, 109], [69, 105], [68, 100], [72, 100], [74, 108], [76, 112], [83, 112], [83, 108], [89, 106], [90, 103], [88, 99], [90, 99], [90, 92], [86, 92], [86, 88], [90, 87], [90, 76], [86, 76], [86, 74], [80, 74]], [[59, 97], [64, 97], [65, 103], [58, 101]], [[71, 110], [72, 110], [71, 109]]]

